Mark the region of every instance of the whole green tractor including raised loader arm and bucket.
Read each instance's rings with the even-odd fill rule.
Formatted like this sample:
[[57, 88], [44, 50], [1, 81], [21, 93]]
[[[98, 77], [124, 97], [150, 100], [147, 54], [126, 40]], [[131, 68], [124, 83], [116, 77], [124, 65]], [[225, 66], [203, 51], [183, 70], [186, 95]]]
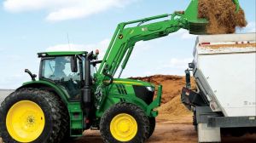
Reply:
[[104, 142], [143, 143], [154, 132], [162, 87], [154, 98], [153, 84], [120, 78], [121, 73], [138, 41], [181, 28], [205, 33], [207, 20], [198, 19], [197, 9], [198, 0], [192, 0], [186, 11], [120, 23], [102, 60], [98, 51], [39, 53], [38, 80], [26, 70], [32, 81], [0, 107], [3, 141], [58, 143], [82, 136], [85, 129], [100, 129]]

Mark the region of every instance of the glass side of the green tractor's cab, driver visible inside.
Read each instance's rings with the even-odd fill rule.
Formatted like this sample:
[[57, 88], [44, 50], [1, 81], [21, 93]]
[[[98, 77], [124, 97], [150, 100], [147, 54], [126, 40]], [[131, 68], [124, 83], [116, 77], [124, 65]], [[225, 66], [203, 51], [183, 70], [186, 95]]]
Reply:
[[71, 71], [71, 56], [43, 59], [40, 73], [40, 78], [53, 81], [62, 89], [66, 89], [69, 98], [79, 98], [80, 74], [79, 70], [78, 72]]

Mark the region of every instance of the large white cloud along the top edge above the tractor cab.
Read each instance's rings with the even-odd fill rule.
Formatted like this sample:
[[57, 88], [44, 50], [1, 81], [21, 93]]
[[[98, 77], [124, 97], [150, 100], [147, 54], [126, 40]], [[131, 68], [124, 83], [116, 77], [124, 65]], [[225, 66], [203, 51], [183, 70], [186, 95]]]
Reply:
[[59, 21], [88, 17], [102, 11], [123, 8], [137, 0], [6, 0], [3, 7], [9, 12], [46, 10], [46, 20]]

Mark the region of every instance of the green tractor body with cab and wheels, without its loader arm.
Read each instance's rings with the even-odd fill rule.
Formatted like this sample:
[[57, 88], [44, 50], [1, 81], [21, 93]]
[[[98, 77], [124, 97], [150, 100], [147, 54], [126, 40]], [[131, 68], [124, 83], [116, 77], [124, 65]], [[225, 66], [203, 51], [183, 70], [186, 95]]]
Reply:
[[[154, 131], [161, 87], [130, 79], [99, 85], [94, 71], [97, 55], [87, 52], [40, 53], [39, 80], [24, 83], [1, 106], [1, 136], [5, 142], [61, 142], [101, 129], [108, 142], [140, 142]], [[108, 78], [109, 77], [109, 78]], [[111, 135], [109, 134], [111, 133]]]

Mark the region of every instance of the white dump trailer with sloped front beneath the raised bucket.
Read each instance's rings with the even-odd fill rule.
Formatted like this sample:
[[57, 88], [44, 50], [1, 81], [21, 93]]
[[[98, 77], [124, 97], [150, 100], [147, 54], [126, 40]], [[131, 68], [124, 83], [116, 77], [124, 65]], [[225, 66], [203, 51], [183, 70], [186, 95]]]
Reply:
[[[256, 33], [197, 37], [183, 104], [195, 112], [199, 142], [256, 133]], [[197, 89], [190, 88], [189, 71]]]

